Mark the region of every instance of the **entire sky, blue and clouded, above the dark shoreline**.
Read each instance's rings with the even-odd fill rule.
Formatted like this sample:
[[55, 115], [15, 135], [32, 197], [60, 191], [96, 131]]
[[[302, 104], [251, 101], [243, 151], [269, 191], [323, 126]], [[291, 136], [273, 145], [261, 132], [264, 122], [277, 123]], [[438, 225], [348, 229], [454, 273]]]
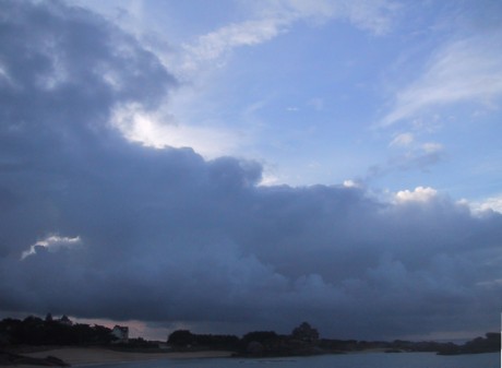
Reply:
[[500, 1], [0, 9], [0, 316], [499, 330]]

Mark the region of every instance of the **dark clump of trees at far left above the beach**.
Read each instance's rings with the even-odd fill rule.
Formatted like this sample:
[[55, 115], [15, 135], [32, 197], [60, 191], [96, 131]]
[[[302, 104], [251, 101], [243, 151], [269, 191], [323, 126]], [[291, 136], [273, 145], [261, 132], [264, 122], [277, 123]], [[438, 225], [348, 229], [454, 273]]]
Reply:
[[0, 321], [1, 345], [106, 345], [117, 337], [111, 330], [94, 324], [73, 323], [68, 317], [46, 319], [29, 316], [24, 320]]

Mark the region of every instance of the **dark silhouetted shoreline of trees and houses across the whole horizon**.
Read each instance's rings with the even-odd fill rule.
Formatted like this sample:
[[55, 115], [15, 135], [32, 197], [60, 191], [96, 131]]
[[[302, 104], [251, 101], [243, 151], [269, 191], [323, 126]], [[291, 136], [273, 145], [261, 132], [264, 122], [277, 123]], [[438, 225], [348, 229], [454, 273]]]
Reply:
[[7, 318], [0, 321], [0, 352], [22, 351], [26, 346], [100, 346], [131, 352], [192, 352], [230, 351], [240, 357], [299, 356], [344, 354], [358, 351], [384, 353], [435, 352], [438, 354], [475, 354], [499, 352], [501, 334], [487, 333], [465, 344], [444, 342], [367, 342], [356, 340], [322, 339], [315, 328], [302, 322], [290, 334], [274, 331], [254, 331], [242, 337], [225, 334], [195, 334], [177, 330], [166, 341], [131, 339], [129, 328], [112, 329], [94, 324], [74, 323], [67, 316], [45, 319], [28, 316], [24, 320]]

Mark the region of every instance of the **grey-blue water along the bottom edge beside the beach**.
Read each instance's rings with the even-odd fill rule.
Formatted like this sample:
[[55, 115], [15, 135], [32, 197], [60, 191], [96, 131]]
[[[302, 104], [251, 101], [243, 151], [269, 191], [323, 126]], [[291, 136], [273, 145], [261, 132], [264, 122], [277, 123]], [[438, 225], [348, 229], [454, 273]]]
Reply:
[[366, 353], [273, 359], [166, 359], [93, 365], [93, 368], [500, 368], [499, 353], [441, 356], [434, 353]]

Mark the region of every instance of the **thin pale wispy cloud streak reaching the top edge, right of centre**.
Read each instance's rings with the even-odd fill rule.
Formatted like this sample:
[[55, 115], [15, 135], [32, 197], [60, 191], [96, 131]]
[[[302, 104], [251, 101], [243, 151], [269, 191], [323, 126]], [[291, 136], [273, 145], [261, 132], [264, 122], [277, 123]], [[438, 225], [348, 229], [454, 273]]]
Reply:
[[[253, 8], [255, 7], [255, 8]], [[216, 31], [199, 36], [194, 43], [186, 44], [180, 72], [193, 72], [206, 68], [208, 62], [224, 62], [224, 58], [235, 48], [255, 46], [285, 34], [299, 21], [348, 20], [355, 26], [374, 34], [386, 33], [398, 7], [393, 1], [264, 1], [251, 5], [254, 17], [225, 25]]]

